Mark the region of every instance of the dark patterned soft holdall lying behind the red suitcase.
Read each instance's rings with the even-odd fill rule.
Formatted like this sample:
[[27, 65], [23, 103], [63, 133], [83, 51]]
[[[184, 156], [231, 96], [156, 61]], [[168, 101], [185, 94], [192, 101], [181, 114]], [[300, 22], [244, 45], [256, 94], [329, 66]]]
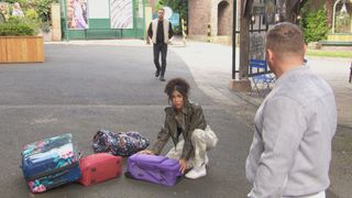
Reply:
[[118, 156], [133, 155], [148, 145], [150, 141], [135, 131], [114, 133], [100, 130], [92, 140], [92, 148], [96, 153], [109, 152]]

